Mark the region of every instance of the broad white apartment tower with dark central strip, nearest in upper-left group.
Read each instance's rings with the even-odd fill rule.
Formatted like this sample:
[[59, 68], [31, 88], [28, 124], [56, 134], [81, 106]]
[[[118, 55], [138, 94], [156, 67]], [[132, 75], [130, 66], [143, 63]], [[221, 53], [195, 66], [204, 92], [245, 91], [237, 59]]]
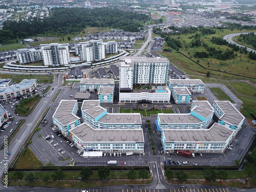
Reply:
[[41, 44], [45, 66], [60, 66], [70, 63], [69, 44]]

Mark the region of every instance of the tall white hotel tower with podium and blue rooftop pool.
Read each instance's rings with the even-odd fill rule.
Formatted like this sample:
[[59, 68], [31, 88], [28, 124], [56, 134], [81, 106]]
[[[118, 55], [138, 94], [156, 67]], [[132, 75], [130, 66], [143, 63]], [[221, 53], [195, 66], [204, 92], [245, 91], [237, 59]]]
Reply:
[[169, 102], [167, 58], [120, 57], [119, 102]]

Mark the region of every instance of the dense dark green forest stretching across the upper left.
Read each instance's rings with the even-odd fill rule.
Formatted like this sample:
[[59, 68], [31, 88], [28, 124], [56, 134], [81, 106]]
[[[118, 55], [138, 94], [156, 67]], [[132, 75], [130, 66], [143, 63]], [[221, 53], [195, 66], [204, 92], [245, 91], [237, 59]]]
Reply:
[[64, 35], [77, 33], [86, 27], [118, 28], [125, 31], [139, 31], [142, 25], [150, 19], [148, 15], [121, 11], [113, 8], [54, 8], [51, 16], [45, 19], [33, 18], [29, 21], [8, 20], [1, 31], [0, 43], [10, 39], [25, 38], [37, 34]]

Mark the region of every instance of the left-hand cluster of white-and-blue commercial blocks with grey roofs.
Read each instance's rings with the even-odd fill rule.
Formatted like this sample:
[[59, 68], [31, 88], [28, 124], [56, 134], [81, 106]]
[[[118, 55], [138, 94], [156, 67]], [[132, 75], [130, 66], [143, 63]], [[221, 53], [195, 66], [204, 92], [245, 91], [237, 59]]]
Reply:
[[[63, 111], [65, 110], [65, 113]], [[107, 113], [99, 100], [84, 100], [82, 119], [76, 116], [77, 101], [61, 100], [53, 123], [75, 145], [84, 150], [144, 153], [140, 114]]]

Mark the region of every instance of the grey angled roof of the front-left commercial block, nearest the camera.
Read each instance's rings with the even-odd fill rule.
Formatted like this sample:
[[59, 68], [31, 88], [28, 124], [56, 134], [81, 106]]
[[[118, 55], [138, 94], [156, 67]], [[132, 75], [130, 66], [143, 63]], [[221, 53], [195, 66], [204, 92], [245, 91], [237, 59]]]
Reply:
[[93, 129], [86, 123], [74, 127], [70, 132], [83, 142], [134, 143], [144, 142], [142, 129]]

